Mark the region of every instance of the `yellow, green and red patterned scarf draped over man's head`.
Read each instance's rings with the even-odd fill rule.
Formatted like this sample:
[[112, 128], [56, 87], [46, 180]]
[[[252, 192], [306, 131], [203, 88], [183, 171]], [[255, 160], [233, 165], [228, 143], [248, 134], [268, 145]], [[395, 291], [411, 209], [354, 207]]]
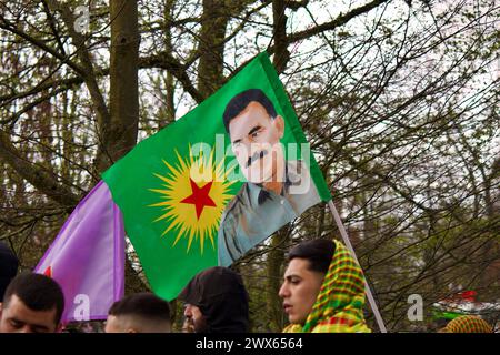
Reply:
[[284, 333], [371, 333], [363, 317], [364, 276], [342, 243], [336, 252], [306, 324], [290, 324]]

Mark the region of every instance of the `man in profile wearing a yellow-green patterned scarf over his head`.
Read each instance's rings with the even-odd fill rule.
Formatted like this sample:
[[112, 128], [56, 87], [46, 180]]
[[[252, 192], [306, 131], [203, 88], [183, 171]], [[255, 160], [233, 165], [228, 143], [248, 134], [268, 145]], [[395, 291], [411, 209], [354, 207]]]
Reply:
[[369, 333], [364, 322], [364, 276], [338, 241], [312, 240], [288, 254], [279, 291], [290, 325], [286, 333]]

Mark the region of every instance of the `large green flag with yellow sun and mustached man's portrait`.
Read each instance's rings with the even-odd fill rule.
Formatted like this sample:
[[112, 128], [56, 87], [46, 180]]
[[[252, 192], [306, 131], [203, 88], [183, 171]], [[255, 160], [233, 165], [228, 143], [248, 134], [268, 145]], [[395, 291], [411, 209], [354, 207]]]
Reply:
[[148, 281], [167, 300], [330, 200], [266, 52], [103, 180]]

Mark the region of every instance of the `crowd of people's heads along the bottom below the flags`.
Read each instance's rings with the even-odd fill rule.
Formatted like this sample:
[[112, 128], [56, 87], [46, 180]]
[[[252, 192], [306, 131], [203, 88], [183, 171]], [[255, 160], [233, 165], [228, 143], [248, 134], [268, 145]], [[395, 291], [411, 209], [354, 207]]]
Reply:
[[[18, 261], [0, 243], [0, 333], [61, 332], [64, 296], [58, 283], [41, 274], [17, 275]], [[338, 241], [318, 239], [296, 245], [279, 291], [290, 325], [287, 333], [370, 333], [363, 316], [364, 276]], [[249, 332], [249, 294], [242, 277], [216, 266], [197, 274], [178, 298], [184, 303], [186, 333]], [[152, 293], [116, 302], [106, 333], [170, 333], [171, 310]], [[440, 333], [491, 333], [477, 316], [461, 316]]]

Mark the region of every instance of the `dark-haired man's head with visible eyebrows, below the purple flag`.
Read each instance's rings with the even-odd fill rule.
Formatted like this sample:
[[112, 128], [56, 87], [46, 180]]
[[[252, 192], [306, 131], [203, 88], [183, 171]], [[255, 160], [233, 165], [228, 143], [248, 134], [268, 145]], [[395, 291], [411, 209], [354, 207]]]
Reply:
[[0, 333], [61, 331], [64, 295], [52, 278], [33, 273], [16, 276], [0, 304]]

